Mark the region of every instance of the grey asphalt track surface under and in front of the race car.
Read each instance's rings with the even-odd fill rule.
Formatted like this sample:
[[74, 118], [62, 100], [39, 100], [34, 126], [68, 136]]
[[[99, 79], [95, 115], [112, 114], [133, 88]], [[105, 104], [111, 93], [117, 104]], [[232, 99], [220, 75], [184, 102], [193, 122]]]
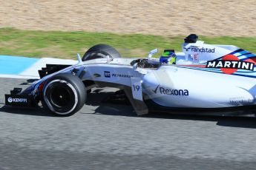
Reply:
[[4, 106], [27, 80], [0, 78], [0, 169], [255, 169], [256, 119], [154, 113], [101, 103], [69, 118]]

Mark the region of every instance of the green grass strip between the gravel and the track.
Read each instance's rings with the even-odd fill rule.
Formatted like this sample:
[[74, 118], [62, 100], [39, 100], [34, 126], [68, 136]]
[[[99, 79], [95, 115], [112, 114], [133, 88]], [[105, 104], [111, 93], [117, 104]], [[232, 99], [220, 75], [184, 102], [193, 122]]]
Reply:
[[[109, 44], [122, 57], [145, 57], [150, 50], [158, 48], [160, 56], [164, 49], [181, 51], [186, 35], [159, 36], [141, 34], [88, 33], [84, 31], [35, 31], [0, 28], [0, 55], [19, 55], [34, 58], [76, 58], [95, 44]], [[200, 36], [207, 44], [232, 44], [256, 53], [255, 37], [208, 37]]]

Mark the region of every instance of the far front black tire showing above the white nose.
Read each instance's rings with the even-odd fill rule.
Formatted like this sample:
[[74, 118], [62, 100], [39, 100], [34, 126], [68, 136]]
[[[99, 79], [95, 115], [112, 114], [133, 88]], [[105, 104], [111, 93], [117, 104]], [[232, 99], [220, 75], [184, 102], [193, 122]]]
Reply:
[[107, 55], [110, 58], [121, 58], [119, 52], [106, 44], [98, 44], [91, 47], [87, 52], [85, 52], [84, 56], [82, 57], [82, 61], [93, 60], [96, 58], [107, 58]]

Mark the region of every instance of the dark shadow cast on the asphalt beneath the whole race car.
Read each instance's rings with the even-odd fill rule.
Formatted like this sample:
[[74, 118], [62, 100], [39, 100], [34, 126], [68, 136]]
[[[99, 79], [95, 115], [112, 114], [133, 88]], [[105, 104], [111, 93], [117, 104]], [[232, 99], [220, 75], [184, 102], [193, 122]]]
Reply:
[[[114, 115], [114, 116], [128, 116], [137, 117], [131, 104], [125, 96], [120, 94], [119, 98], [115, 98], [114, 92], [93, 92], [88, 94], [88, 101], [85, 103], [84, 108], [76, 114], [98, 114], [98, 115]], [[2, 104], [2, 103], [1, 103]], [[87, 112], [87, 108], [94, 106], [91, 109], [92, 113]], [[95, 108], [96, 107], [96, 108]], [[86, 109], [85, 109], [86, 108]], [[7, 112], [18, 115], [34, 115], [34, 116], [47, 116], [56, 117], [51, 115], [42, 108], [27, 109], [16, 108], [12, 106], [1, 106], [0, 112]], [[142, 118], [157, 118], [157, 119], [179, 119], [179, 120], [200, 120], [200, 121], [213, 121], [218, 126], [231, 126], [240, 128], [256, 129], [256, 118], [247, 117], [221, 117], [209, 115], [177, 115], [163, 112], [151, 112], [148, 115], [140, 116]], [[61, 118], [61, 117], [60, 117]]]

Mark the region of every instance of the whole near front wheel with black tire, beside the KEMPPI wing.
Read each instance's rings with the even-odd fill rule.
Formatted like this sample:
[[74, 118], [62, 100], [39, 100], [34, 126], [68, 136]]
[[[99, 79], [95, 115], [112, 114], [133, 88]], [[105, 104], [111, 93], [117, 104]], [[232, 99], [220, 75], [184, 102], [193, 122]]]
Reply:
[[58, 116], [70, 116], [84, 106], [86, 89], [75, 75], [61, 73], [45, 83], [42, 96], [42, 105], [48, 112]]

